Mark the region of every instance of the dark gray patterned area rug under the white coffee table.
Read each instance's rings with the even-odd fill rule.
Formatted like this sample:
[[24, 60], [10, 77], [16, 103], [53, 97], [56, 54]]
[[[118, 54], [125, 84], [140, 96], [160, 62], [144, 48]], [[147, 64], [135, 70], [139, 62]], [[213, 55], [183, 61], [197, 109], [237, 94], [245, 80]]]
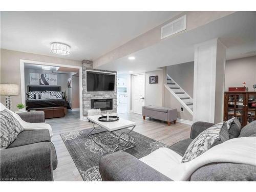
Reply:
[[[111, 153], [114, 151], [116, 146], [118, 146], [117, 136], [123, 132], [129, 132], [130, 130], [117, 130], [114, 132], [117, 136], [109, 132], [99, 133], [104, 131], [103, 129], [100, 131], [94, 131], [93, 133], [99, 134], [93, 135], [93, 139], [102, 147], [87, 136], [91, 131], [92, 129], [86, 129], [63, 133], [60, 134], [60, 136], [68, 148], [83, 181], [101, 181], [98, 167], [100, 158], [104, 155], [108, 155], [107, 152]], [[168, 145], [155, 141], [134, 131], [130, 133], [130, 136], [130, 141], [136, 146], [129, 148], [125, 152], [138, 159], [152, 153], [160, 147], [168, 147]], [[118, 151], [120, 150], [122, 150], [122, 148], [118, 148]]]

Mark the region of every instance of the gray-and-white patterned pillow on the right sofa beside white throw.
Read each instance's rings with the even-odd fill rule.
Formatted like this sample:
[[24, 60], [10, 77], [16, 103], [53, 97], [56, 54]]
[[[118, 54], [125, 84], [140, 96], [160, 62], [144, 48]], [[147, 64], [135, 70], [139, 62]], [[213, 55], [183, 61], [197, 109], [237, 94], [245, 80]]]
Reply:
[[212, 125], [207, 130], [200, 133], [187, 147], [187, 150], [182, 158], [182, 163], [191, 161], [211, 147], [223, 143], [229, 139], [227, 123], [221, 122]]

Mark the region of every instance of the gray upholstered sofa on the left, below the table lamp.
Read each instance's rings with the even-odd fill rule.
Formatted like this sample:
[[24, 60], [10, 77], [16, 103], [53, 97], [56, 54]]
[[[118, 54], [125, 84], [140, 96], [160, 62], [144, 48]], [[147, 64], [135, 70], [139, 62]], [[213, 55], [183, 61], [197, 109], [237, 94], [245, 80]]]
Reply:
[[[44, 112], [18, 114], [30, 123], [45, 122]], [[1, 181], [53, 181], [55, 147], [47, 129], [24, 130], [0, 153]]]

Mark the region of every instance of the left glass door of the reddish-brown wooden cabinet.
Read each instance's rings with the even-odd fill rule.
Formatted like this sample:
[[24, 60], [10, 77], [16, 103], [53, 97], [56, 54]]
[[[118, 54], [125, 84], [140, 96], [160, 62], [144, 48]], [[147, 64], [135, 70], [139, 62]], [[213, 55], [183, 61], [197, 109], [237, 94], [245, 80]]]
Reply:
[[244, 118], [244, 94], [228, 95], [228, 119], [237, 117], [242, 124]]

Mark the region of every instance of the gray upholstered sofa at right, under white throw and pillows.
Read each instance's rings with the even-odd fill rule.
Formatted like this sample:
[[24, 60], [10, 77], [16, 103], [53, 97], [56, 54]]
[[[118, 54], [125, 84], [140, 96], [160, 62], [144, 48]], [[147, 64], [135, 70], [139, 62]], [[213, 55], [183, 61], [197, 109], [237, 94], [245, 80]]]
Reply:
[[[179, 141], [169, 148], [181, 156], [188, 145], [212, 123], [196, 122], [191, 126], [190, 138]], [[255, 137], [256, 121], [246, 125], [239, 137]], [[255, 146], [256, 148], [256, 146]], [[102, 157], [99, 171], [103, 181], [172, 181], [151, 166], [125, 152]], [[256, 181], [256, 166], [238, 163], [211, 163], [198, 168], [190, 181]]]

